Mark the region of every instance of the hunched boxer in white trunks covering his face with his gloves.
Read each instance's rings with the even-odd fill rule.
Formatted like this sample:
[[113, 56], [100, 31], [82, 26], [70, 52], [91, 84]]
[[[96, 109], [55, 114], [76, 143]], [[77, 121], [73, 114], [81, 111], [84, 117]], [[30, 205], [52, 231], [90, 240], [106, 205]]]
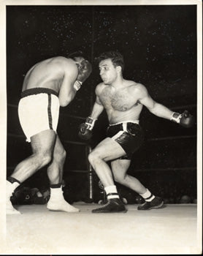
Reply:
[[7, 214], [20, 214], [10, 201], [12, 192], [45, 165], [48, 165], [50, 180], [47, 208], [51, 211], [79, 211], [64, 200], [61, 181], [66, 151], [56, 129], [60, 106], [69, 105], [90, 74], [91, 64], [81, 53], [41, 61], [26, 74], [18, 116], [33, 154], [20, 162], [7, 178]]

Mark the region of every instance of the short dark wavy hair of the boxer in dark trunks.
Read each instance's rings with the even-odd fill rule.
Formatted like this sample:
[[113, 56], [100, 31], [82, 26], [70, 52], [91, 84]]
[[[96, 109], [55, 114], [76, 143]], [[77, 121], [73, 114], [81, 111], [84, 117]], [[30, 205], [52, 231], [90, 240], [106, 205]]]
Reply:
[[110, 50], [105, 53], [100, 54], [99, 57], [96, 58], [96, 61], [101, 62], [104, 61], [104, 59], [111, 59], [112, 64], [114, 67], [120, 66], [122, 68], [122, 71], [124, 69], [124, 59], [123, 55], [119, 53], [118, 50]]

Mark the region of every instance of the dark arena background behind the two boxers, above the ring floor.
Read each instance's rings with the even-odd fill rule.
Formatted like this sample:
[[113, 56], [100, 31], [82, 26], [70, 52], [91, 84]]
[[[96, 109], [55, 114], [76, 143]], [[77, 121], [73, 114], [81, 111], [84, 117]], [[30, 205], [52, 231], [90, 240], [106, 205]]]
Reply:
[[[64, 166], [69, 200], [90, 197], [87, 152], [105, 136], [102, 113], [88, 144], [77, 127], [91, 112], [94, 89], [100, 82], [94, 59], [106, 50], [120, 50], [124, 78], [144, 84], [157, 102], [196, 117], [196, 6], [7, 6], [7, 175], [31, 154], [18, 121], [23, 78], [38, 61], [83, 50], [93, 73], [74, 101], [61, 108], [58, 135], [67, 151]], [[129, 173], [156, 195], [178, 203], [182, 195], [196, 198], [196, 125], [185, 129], [142, 110], [145, 143], [134, 154]], [[93, 173], [93, 200], [102, 197]], [[48, 187], [46, 169], [25, 186]], [[129, 203], [136, 193], [118, 186]]]

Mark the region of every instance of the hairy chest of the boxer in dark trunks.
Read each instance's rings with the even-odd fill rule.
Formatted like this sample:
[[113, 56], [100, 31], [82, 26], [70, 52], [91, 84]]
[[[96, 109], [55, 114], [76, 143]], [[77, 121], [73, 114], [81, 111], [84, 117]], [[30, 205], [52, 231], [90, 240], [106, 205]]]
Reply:
[[126, 111], [134, 105], [138, 105], [137, 95], [131, 94], [131, 91], [126, 89], [113, 90], [112, 88], [104, 88], [99, 95], [99, 99], [106, 109], [118, 111]]

